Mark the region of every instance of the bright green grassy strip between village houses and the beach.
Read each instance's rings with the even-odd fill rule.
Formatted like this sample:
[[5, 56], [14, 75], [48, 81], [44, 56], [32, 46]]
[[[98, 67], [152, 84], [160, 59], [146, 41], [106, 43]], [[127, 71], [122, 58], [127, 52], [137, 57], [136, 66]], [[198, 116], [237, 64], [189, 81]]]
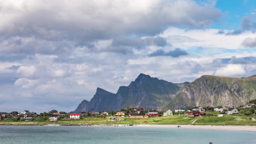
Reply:
[[[12, 118], [5, 118], [0, 123], [14, 123], [14, 124], [191, 124], [193, 125], [256, 125], [256, 121], [252, 121], [254, 116], [238, 115], [224, 115], [224, 117], [217, 117], [218, 112], [208, 112], [207, 115], [201, 117], [189, 117], [189, 115], [175, 115], [171, 117], [151, 117], [151, 118], [120, 118], [123, 121], [108, 121], [111, 116], [106, 118], [83, 118], [79, 120], [62, 119], [59, 121], [46, 121], [44, 118], [35, 118], [34, 121], [13, 121]], [[142, 121], [148, 121], [142, 123]]]

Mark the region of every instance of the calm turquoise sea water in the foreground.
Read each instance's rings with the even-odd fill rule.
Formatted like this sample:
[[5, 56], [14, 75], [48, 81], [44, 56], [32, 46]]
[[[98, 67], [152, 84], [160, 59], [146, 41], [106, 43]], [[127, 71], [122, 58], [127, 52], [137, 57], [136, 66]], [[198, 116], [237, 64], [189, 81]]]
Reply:
[[183, 128], [0, 126], [1, 144], [256, 144], [256, 133]]

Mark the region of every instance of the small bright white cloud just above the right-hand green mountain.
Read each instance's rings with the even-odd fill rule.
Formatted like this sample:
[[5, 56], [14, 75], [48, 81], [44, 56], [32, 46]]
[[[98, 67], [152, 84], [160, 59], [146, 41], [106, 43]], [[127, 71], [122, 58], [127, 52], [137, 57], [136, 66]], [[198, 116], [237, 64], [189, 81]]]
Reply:
[[229, 64], [225, 67], [217, 69], [214, 72], [214, 75], [217, 76], [235, 76], [235, 75], [244, 75], [246, 71], [244, 70], [243, 65]]

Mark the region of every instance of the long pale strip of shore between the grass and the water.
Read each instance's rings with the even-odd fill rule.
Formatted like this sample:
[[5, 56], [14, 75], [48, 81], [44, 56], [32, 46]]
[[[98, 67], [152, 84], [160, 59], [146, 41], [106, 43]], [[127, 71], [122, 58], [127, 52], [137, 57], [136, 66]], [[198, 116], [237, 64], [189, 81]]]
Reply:
[[[20, 126], [106, 126], [106, 127], [136, 127], [136, 128], [177, 128], [178, 124], [0, 124]], [[180, 125], [182, 129], [205, 129], [224, 131], [251, 131], [256, 132], [256, 126], [236, 125]]]

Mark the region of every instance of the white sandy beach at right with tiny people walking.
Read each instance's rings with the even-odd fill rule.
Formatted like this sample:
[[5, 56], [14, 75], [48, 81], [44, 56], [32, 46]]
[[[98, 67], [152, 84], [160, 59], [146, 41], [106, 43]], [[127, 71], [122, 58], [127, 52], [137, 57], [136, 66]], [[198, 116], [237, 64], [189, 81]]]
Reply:
[[[141, 128], [177, 128], [178, 125], [167, 125], [167, 124], [137, 124], [133, 127]], [[227, 130], [227, 131], [254, 131], [256, 132], [256, 126], [220, 126], [220, 125], [181, 125], [181, 128], [190, 129], [212, 129], [212, 130]]]

